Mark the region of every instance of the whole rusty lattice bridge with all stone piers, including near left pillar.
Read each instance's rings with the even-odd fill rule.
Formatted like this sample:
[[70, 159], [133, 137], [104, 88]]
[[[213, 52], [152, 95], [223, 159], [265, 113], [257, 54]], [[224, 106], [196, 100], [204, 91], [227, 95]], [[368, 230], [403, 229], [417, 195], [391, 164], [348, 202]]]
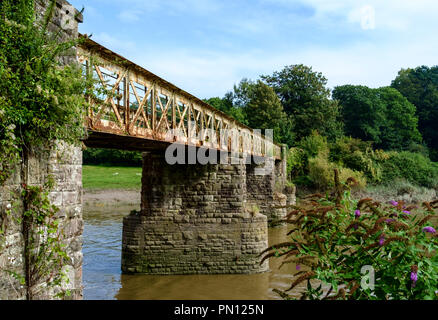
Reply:
[[[35, 1], [38, 12], [45, 1]], [[68, 21], [68, 28], [63, 22]], [[259, 254], [268, 246], [268, 221], [281, 219], [294, 201], [284, 194], [285, 147], [201, 99], [78, 33], [82, 15], [56, 1], [50, 26], [64, 38], [80, 37], [66, 63], [79, 63], [95, 79], [84, 115], [88, 148], [141, 151], [141, 208], [123, 220], [122, 271], [148, 274], [257, 273], [267, 271]], [[11, 274], [25, 274], [19, 194], [23, 184], [42, 186], [60, 208], [68, 261], [63, 267], [71, 298], [82, 297], [82, 148], [56, 142], [29, 154], [3, 186], [2, 220], [7, 246], [0, 251], [0, 299], [49, 299], [56, 290], [25, 288]], [[20, 211], [21, 210], [21, 211]], [[5, 272], [4, 270], [8, 270]]]

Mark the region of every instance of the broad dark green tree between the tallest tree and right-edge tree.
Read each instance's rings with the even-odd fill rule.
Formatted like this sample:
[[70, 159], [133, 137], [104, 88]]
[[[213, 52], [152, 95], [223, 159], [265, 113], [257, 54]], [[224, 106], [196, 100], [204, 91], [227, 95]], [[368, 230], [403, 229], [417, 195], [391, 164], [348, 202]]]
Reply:
[[421, 142], [415, 106], [390, 87], [344, 85], [333, 90], [342, 106], [345, 133], [383, 149], [406, 149]]

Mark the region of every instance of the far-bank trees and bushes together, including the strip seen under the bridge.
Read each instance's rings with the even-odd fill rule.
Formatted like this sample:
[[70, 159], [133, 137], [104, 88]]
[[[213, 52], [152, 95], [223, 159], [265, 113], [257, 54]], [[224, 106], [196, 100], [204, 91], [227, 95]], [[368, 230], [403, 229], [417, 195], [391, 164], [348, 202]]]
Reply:
[[[402, 180], [404, 189], [438, 190], [438, 66], [402, 69], [386, 87], [330, 90], [322, 73], [290, 65], [204, 101], [251, 128], [273, 129], [275, 142], [290, 148], [295, 184], [330, 188], [337, 168], [361, 186]], [[84, 163], [141, 165], [141, 157], [89, 149]]]

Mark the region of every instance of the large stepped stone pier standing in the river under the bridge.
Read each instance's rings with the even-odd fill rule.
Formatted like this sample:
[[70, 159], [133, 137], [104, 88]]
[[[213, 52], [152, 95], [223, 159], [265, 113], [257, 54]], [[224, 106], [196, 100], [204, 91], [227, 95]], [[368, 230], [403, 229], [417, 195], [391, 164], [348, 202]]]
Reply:
[[245, 161], [168, 165], [143, 155], [142, 211], [123, 221], [122, 270], [152, 274], [254, 273], [267, 218], [246, 210]]

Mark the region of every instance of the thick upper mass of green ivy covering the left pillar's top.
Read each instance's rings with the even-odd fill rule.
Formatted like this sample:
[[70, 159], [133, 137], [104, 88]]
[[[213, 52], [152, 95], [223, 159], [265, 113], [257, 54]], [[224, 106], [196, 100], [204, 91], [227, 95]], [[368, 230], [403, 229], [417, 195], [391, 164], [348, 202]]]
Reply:
[[60, 62], [78, 40], [48, 32], [54, 6], [51, 1], [40, 21], [34, 1], [0, 3], [0, 183], [26, 146], [77, 143], [83, 136], [87, 79], [79, 66]]

